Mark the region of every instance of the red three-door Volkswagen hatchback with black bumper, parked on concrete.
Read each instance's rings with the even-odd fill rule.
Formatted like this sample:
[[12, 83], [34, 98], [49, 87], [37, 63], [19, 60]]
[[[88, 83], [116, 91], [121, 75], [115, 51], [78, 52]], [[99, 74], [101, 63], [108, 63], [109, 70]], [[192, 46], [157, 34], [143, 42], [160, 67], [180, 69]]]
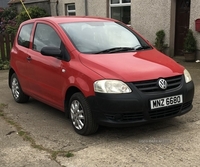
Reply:
[[96, 17], [23, 22], [9, 86], [16, 102], [32, 97], [65, 112], [81, 135], [185, 114], [194, 96], [184, 67], [132, 28]]

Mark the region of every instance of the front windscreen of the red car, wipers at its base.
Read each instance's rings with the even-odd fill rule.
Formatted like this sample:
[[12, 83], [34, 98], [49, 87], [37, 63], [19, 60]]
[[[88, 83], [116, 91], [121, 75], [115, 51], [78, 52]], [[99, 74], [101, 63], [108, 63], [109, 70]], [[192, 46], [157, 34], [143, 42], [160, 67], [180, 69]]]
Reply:
[[114, 53], [150, 48], [143, 39], [116, 22], [64, 23], [61, 27], [82, 53]]

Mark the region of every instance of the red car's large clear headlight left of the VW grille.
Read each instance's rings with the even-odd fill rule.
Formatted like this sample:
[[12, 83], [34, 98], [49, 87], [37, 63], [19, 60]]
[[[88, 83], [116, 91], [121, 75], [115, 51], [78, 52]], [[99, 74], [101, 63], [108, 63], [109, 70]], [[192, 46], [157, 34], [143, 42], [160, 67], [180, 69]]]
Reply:
[[122, 81], [99, 80], [94, 83], [94, 91], [99, 93], [130, 93], [131, 89]]

